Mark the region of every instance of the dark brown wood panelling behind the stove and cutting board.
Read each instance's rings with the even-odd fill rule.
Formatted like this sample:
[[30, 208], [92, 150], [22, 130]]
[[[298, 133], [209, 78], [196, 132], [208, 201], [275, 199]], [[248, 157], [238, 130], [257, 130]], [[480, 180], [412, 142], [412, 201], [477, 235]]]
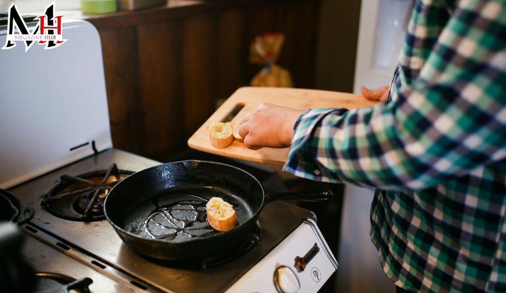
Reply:
[[114, 147], [162, 161], [184, 150], [217, 102], [261, 69], [247, 57], [262, 33], [285, 33], [278, 64], [296, 87], [313, 88], [318, 3], [219, 1], [88, 19], [102, 38]]

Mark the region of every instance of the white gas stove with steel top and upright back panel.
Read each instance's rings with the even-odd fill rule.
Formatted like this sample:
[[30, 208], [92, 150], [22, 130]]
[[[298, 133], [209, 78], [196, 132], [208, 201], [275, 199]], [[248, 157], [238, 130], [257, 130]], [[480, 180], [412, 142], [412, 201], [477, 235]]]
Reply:
[[161, 163], [112, 148], [98, 33], [85, 21], [64, 23], [63, 33], [68, 41], [56, 49], [25, 53], [20, 46], [6, 58], [12, 68], [58, 67], [47, 80], [26, 76], [67, 80], [56, 93], [41, 98], [36, 87], [7, 86], [15, 75], [0, 81], [8, 88], [0, 108], [0, 188], [34, 209], [21, 228], [22, 253], [36, 271], [66, 275], [94, 292], [310, 292], [336, 271], [314, 214], [283, 202], [266, 205], [249, 238], [227, 256], [171, 263], [129, 249], [105, 220], [104, 199], [121, 179]]

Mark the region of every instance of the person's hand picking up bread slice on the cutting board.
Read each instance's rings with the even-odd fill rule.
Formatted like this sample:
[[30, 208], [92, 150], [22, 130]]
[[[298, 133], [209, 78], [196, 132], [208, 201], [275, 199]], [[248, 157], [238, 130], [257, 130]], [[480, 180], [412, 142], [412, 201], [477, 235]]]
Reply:
[[251, 150], [287, 148], [293, 137], [293, 126], [302, 110], [262, 103], [255, 111], [244, 116], [239, 135]]

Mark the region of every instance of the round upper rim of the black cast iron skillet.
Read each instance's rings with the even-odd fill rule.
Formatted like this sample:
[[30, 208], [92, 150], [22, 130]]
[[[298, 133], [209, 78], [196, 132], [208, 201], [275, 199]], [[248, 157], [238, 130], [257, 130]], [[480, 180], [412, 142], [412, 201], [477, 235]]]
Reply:
[[[126, 231], [125, 229], [123, 229], [120, 226], [118, 226], [116, 223], [114, 223], [109, 218], [109, 215], [107, 213], [107, 202], [108, 202], [109, 196], [110, 196], [111, 192], [114, 191], [114, 189], [116, 188], [116, 186], [118, 186], [119, 184], [123, 183], [124, 180], [126, 180], [126, 179], [128, 179], [128, 178], [130, 178], [132, 176], [135, 176], [138, 173], [147, 172], [147, 170], [150, 170], [150, 169], [159, 168], [161, 166], [172, 165], [172, 164], [177, 164], [177, 163], [184, 164], [184, 163], [187, 163], [187, 162], [196, 162], [198, 164], [205, 163], [205, 164], [213, 164], [213, 165], [223, 165], [223, 166], [226, 166], [226, 167], [231, 167], [231, 168], [237, 169], [238, 171], [243, 172], [243, 173], [249, 175], [252, 179], [254, 179], [258, 183], [258, 185], [260, 186], [260, 189], [262, 190], [262, 203], [260, 204], [260, 207], [257, 209], [257, 211], [255, 211], [255, 213], [252, 214], [252, 216], [247, 221], [245, 221], [244, 223], [242, 223], [240, 225], [236, 225], [235, 227], [233, 227], [230, 230], [223, 231], [221, 233], [206, 235], [206, 236], [202, 236], [202, 237], [190, 237], [190, 238], [188, 238], [186, 240], [181, 240], [181, 241], [166, 240], [166, 239], [163, 239], [163, 238], [162, 239], [153, 239], [153, 238], [142, 237], [139, 234], [135, 234], [135, 233]], [[168, 162], [168, 163], [164, 163], [164, 164], [148, 167], [146, 169], [137, 171], [137, 172], [131, 174], [130, 176], [121, 179], [121, 181], [119, 181], [116, 185], [114, 185], [111, 188], [111, 190], [109, 191], [108, 196], [105, 198], [105, 201], [104, 201], [104, 214], [105, 214], [105, 218], [107, 219], [107, 222], [109, 222], [109, 224], [116, 230], [116, 232], [117, 231], [121, 231], [121, 233], [127, 234], [130, 237], [134, 237], [136, 239], [139, 239], [140, 241], [153, 241], [155, 243], [165, 242], [165, 243], [170, 243], [171, 245], [179, 245], [179, 244], [184, 244], [184, 243], [189, 243], [189, 242], [205, 241], [205, 240], [208, 240], [208, 239], [219, 239], [219, 238], [222, 238], [222, 237], [226, 237], [226, 236], [230, 235], [231, 233], [233, 233], [232, 231], [238, 231], [239, 229], [243, 228], [243, 226], [249, 225], [253, 220], [255, 220], [255, 222], [256, 222], [257, 219], [258, 219], [258, 215], [260, 214], [260, 212], [264, 208], [265, 203], [266, 203], [266, 197], [265, 197], [264, 186], [262, 186], [262, 183], [260, 183], [260, 181], [257, 179], [257, 177], [253, 176], [251, 173], [247, 172], [246, 170], [243, 170], [243, 169], [241, 169], [239, 167], [232, 166], [232, 165], [229, 165], [229, 164], [220, 163], [220, 162], [203, 161], [203, 160], [184, 160], [184, 161]]]

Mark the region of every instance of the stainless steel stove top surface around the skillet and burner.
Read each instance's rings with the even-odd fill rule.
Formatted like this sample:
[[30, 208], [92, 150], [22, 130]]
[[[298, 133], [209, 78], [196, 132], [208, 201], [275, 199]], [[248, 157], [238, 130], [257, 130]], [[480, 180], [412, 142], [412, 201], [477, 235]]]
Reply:
[[[40, 206], [40, 203], [47, 198], [47, 193], [55, 185], [61, 183], [61, 174], [77, 176], [90, 170], [107, 170], [113, 162], [121, 170], [133, 171], [160, 164], [134, 154], [110, 149], [32, 179], [11, 188], [10, 191], [16, 194], [22, 203], [31, 205], [35, 209], [35, 216], [29, 222], [29, 227], [41, 233], [29, 233], [31, 236], [48, 234], [49, 236], [44, 241], [54, 248], [62, 249], [63, 247], [65, 254], [71, 255], [81, 263], [88, 265], [91, 263], [92, 266], [103, 267], [102, 270], [125, 273], [137, 280], [136, 283], [131, 282], [137, 288], [141, 285], [174, 292], [224, 291], [276, 247], [304, 219], [314, 218], [311, 211], [290, 204], [283, 202], [268, 204], [262, 210], [258, 220], [260, 240], [256, 241], [245, 254], [206, 269], [170, 267], [169, 264], [153, 262], [130, 250], [106, 220], [71, 221], [57, 217]], [[66, 181], [67, 177], [63, 179]], [[82, 257], [82, 254], [77, 252], [85, 252], [85, 255], [91, 256], [91, 259]], [[117, 279], [117, 276], [111, 275]], [[119, 279], [124, 279], [124, 277]], [[205, 287], [202, 287], [202, 284], [205, 284]]]

